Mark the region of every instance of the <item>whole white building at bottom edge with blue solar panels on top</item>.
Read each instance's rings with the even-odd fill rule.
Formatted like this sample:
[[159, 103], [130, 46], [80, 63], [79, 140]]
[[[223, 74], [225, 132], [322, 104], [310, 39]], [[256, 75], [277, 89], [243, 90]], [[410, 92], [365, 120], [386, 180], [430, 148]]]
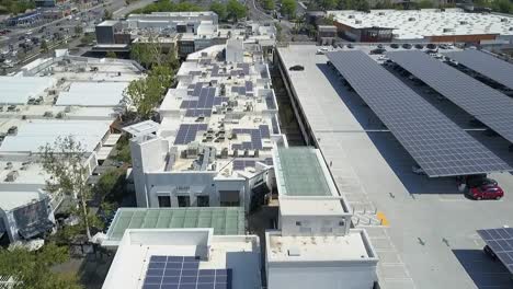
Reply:
[[103, 289], [260, 289], [255, 235], [214, 235], [213, 229], [129, 229]]

